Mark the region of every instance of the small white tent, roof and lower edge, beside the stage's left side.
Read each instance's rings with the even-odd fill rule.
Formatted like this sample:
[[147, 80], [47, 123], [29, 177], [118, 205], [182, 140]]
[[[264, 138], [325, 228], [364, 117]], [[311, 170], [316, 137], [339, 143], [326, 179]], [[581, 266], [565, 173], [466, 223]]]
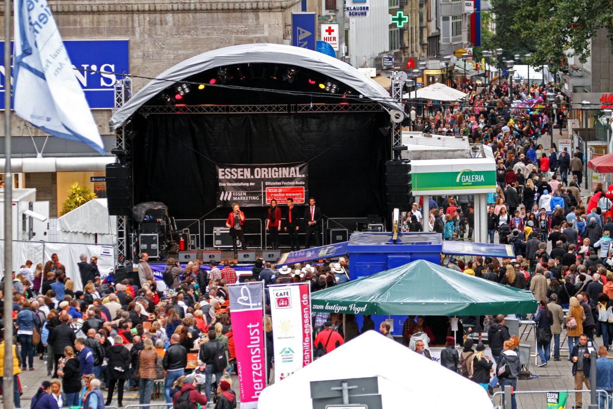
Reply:
[[116, 216], [109, 216], [107, 199], [93, 199], [58, 218], [59, 242], [112, 245], [116, 238]]

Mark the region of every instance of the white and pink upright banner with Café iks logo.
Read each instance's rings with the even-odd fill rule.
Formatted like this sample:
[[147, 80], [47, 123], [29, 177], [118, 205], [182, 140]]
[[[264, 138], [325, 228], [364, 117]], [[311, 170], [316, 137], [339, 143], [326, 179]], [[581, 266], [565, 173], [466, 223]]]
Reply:
[[269, 289], [276, 383], [311, 363], [311, 299], [307, 283]]

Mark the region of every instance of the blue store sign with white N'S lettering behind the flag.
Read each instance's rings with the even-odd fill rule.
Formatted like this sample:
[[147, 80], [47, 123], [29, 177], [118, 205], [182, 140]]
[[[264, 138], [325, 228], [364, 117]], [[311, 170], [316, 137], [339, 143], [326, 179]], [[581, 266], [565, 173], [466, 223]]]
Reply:
[[[4, 47], [4, 41], [0, 41], [0, 44]], [[114, 73], [130, 73], [129, 41], [64, 40], [64, 45], [75, 68], [75, 77], [85, 92], [89, 108], [113, 108], [115, 81], [122, 78], [121, 75]], [[4, 81], [2, 66], [0, 67], [0, 109], [4, 109]]]

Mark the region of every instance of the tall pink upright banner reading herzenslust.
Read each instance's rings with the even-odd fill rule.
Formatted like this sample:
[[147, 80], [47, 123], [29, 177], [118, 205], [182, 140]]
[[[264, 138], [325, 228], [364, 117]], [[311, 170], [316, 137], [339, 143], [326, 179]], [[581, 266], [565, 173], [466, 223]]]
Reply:
[[228, 286], [241, 409], [257, 408], [266, 387], [262, 283]]

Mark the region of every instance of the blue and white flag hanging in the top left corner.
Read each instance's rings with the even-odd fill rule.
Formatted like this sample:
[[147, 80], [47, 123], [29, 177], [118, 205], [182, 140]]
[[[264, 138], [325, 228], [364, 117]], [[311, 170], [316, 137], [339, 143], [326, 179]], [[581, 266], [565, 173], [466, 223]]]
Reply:
[[104, 155], [85, 94], [47, 0], [15, 0], [13, 109], [49, 134], [89, 145]]

